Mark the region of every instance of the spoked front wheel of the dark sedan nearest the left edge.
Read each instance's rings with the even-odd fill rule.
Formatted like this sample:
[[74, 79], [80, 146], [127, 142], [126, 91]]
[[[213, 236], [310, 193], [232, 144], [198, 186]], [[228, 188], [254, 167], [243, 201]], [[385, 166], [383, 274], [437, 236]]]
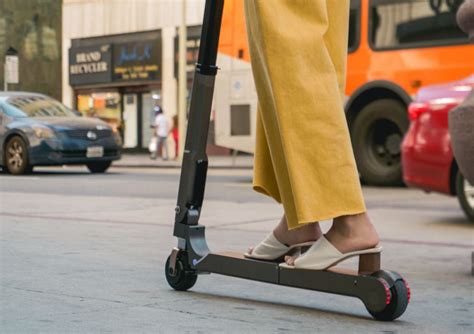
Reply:
[[13, 175], [27, 174], [33, 170], [29, 164], [28, 147], [19, 136], [11, 138], [5, 146], [5, 168]]

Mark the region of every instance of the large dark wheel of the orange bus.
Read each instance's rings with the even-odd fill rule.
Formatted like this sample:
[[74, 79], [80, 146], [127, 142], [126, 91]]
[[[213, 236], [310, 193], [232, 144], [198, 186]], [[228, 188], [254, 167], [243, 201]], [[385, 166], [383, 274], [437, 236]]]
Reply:
[[366, 105], [352, 123], [352, 145], [362, 182], [401, 185], [401, 144], [409, 121], [405, 105], [381, 99]]

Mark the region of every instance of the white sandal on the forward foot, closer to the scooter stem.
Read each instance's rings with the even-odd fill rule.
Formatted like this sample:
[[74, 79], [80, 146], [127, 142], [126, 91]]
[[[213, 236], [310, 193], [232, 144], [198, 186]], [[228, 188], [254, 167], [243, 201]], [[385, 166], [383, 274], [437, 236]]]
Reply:
[[297, 255], [301, 247], [310, 247], [313, 243], [314, 241], [309, 241], [287, 246], [278, 241], [273, 233], [270, 233], [265, 240], [255, 246], [252, 253], [246, 252], [244, 256], [249, 259], [277, 261], [283, 259], [285, 255]]

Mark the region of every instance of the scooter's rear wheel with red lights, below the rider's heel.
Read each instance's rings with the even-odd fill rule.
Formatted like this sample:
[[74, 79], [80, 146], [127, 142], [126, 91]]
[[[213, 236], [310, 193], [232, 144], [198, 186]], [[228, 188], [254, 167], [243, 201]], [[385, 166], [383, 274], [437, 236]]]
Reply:
[[[395, 280], [392, 287], [387, 283], [390, 281], [388, 273], [379, 271], [374, 274], [385, 286], [387, 305], [381, 311], [373, 311], [367, 308], [367, 311], [377, 320], [392, 321], [399, 318], [407, 309], [410, 301], [410, 288], [406, 281], [399, 277]], [[398, 276], [398, 275], [397, 275]]]

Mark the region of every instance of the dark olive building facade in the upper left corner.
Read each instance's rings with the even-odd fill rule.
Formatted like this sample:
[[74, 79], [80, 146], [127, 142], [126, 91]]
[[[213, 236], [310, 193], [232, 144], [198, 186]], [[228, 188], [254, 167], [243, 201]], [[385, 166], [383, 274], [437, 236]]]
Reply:
[[1, 0], [1, 87], [9, 48], [18, 51], [19, 84], [9, 84], [8, 90], [61, 99], [61, 0]]

